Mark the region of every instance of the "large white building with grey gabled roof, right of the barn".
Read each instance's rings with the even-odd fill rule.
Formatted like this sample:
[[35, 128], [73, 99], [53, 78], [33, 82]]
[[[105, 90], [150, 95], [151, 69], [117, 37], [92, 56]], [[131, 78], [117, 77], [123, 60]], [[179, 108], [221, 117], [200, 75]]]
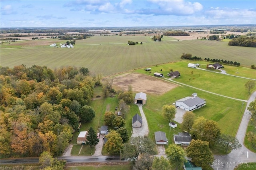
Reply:
[[185, 97], [183, 99], [177, 100], [175, 106], [185, 111], [192, 111], [194, 109], [199, 109], [206, 105], [206, 101], [200, 97]]

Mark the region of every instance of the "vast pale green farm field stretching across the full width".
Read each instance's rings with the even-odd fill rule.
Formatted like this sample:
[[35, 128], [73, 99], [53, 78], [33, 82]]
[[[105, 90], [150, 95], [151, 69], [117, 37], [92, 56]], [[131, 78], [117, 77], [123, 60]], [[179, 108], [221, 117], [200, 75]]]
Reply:
[[[143, 44], [127, 45], [128, 40]], [[77, 40], [72, 49], [49, 47], [54, 42], [53, 39], [11, 42], [0, 46], [1, 66], [46, 65], [51, 69], [75, 66], [87, 67], [93, 74], [111, 75], [140, 67], [179, 61], [183, 52], [202, 59], [208, 57], [226, 59], [240, 62], [241, 65], [248, 67], [256, 65], [253, 63], [256, 62], [256, 49], [252, 47], [228, 46], [228, 42], [207, 40], [176, 41], [177, 39], [165, 36], [162, 40], [162, 42], [153, 42], [149, 36], [95, 36]], [[32, 44], [26, 45], [28, 42]], [[56, 40], [57, 44], [64, 42]], [[18, 48], [9, 49], [12, 45]], [[20, 48], [25, 46], [34, 47]]]

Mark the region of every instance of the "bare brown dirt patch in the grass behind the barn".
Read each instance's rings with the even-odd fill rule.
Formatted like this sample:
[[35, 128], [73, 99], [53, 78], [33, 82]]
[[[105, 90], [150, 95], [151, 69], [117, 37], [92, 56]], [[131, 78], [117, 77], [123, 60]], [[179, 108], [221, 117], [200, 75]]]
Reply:
[[132, 85], [132, 91], [152, 93], [161, 95], [177, 87], [177, 85], [139, 73], [125, 73], [114, 77], [113, 87], [117, 90], [128, 90], [128, 85]]

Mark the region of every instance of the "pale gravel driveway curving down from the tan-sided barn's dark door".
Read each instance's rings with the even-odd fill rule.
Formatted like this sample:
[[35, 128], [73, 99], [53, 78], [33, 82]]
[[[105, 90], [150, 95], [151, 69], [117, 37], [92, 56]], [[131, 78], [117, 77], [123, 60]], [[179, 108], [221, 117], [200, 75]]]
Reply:
[[146, 116], [142, 110], [142, 105], [141, 104], [136, 104], [139, 107], [140, 110], [140, 115], [142, 118], [142, 127], [141, 128], [132, 128], [132, 137], [136, 136], [145, 136], [148, 135], [148, 121], [146, 119]]

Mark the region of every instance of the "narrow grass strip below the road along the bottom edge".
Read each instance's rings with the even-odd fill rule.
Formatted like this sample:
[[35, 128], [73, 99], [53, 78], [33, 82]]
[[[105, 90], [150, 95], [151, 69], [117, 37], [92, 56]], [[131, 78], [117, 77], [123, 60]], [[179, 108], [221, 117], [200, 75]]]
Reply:
[[122, 165], [99, 165], [99, 166], [67, 166], [64, 170], [130, 170], [130, 164]]

